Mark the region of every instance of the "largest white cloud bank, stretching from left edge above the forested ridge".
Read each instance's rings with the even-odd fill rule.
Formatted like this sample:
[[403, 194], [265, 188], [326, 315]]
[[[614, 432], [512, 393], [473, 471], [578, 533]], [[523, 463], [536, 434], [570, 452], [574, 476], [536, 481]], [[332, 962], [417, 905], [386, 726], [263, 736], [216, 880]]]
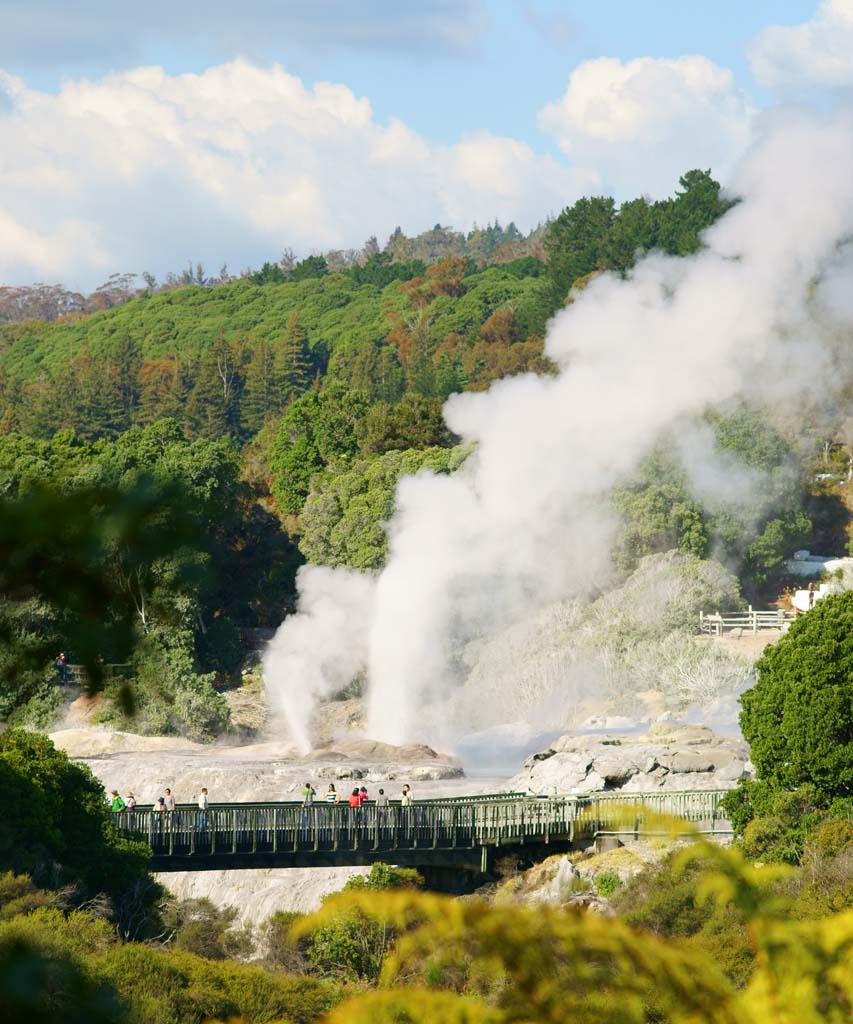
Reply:
[[346, 86], [246, 60], [71, 80], [55, 96], [3, 76], [0, 94], [0, 282], [240, 268], [396, 224], [532, 224], [596, 184], [510, 138], [435, 145]]

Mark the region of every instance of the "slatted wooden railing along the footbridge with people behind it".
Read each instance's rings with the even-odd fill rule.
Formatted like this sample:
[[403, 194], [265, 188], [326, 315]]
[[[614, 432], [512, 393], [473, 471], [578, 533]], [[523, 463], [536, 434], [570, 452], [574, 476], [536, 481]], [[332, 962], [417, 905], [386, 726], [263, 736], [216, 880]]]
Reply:
[[157, 857], [223, 854], [332, 853], [345, 851], [460, 849], [573, 839], [602, 831], [647, 830], [650, 815], [701, 822], [722, 818], [725, 791], [670, 794], [594, 794], [537, 798], [497, 794], [485, 798], [421, 801], [410, 807], [369, 803], [211, 804], [206, 811], [137, 806], [114, 817], [123, 830], [144, 838]]

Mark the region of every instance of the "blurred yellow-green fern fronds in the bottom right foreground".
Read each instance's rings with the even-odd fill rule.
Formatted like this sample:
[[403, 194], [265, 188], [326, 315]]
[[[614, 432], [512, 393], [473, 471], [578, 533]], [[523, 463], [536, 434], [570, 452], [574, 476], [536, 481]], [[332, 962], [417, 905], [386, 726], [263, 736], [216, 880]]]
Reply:
[[[755, 948], [755, 969], [742, 988], [725, 977], [712, 951], [620, 920], [413, 891], [356, 892], [329, 900], [313, 919], [299, 921], [294, 934], [308, 934], [339, 913], [344, 902], [400, 933], [386, 957], [381, 990], [340, 1005], [329, 1018], [333, 1024], [849, 1021], [853, 911], [793, 920], [782, 884], [790, 868], [748, 864], [736, 850], [710, 844], [686, 851], [683, 863], [695, 861], [697, 852], [703, 864], [697, 901], [712, 903], [723, 914], [720, 920], [736, 913]], [[487, 982], [480, 997], [470, 987], [446, 984], [462, 964]]]

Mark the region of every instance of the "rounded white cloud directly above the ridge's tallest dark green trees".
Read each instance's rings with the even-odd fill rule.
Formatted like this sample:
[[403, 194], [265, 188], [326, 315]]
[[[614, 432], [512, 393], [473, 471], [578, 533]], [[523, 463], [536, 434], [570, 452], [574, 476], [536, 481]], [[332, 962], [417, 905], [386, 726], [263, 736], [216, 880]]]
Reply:
[[726, 178], [755, 110], [732, 73], [702, 56], [601, 57], [582, 63], [540, 126], [621, 195], [669, 195], [685, 170]]

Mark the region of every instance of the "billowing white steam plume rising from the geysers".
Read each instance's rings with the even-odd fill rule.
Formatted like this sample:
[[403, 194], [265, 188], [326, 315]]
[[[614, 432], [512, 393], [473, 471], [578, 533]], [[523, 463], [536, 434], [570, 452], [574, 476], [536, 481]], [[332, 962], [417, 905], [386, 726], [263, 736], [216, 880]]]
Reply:
[[[800, 396], [829, 386], [853, 318], [853, 118], [768, 116], [731, 191], [742, 202], [700, 253], [601, 275], [555, 317], [546, 351], [557, 376], [447, 401], [474, 454], [452, 476], [400, 482], [375, 580], [303, 570], [299, 614], [265, 664], [303, 744], [313, 700], [364, 668], [373, 737], [442, 741], [475, 728], [442, 722], [462, 646], [606, 583], [617, 526], [607, 494], [665, 432], [739, 396], [796, 415]], [[688, 445], [707, 495], [725, 474], [702, 467], [703, 447]], [[491, 703], [498, 688], [481, 686]]]

